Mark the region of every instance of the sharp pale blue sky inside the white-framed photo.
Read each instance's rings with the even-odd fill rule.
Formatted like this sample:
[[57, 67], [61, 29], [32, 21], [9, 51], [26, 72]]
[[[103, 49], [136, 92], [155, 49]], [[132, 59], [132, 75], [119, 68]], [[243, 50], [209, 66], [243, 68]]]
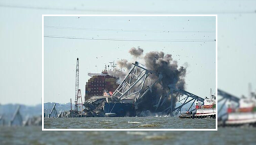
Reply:
[[[144, 53], [171, 54], [179, 66], [188, 66], [188, 92], [209, 96], [210, 88], [214, 92], [216, 88], [215, 29], [215, 17], [45, 17], [44, 36], [90, 39], [44, 37], [44, 102], [65, 103], [74, 98], [77, 57], [79, 88], [84, 96], [86, 81], [90, 79], [88, 72], [100, 73], [116, 60], [134, 62], [128, 51], [138, 46]], [[188, 41], [96, 40], [101, 38]], [[193, 39], [202, 41], [189, 41]]]

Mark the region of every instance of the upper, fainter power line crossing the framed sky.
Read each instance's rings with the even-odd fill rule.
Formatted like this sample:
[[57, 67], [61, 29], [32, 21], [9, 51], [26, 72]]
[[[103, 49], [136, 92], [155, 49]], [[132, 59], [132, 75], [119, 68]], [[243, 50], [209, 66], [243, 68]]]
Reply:
[[81, 31], [115, 31], [115, 32], [156, 32], [156, 33], [168, 33], [168, 32], [215, 32], [215, 31], [143, 31], [143, 30], [125, 30], [125, 29], [91, 29], [91, 28], [79, 28], [79, 27], [60, 27], [60, 26], [49, 26], [45, 25], [45, 28], [51, 29], [71, 29]]

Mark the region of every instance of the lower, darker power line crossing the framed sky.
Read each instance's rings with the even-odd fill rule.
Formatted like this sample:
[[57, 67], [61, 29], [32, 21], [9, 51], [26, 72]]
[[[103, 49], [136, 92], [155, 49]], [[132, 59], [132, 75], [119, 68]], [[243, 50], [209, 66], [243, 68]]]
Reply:
[[102, 41], [141, 41], [141, 42], [214, 42], [216, 39], [170, 39], [170, 40], [147, 40], [147, 39], [112, 39], [112, 38], [76, 38], [68, 36], [44, 36], [45, 38], [61, 39], [84, 39], [84, 40], [102, 40]]

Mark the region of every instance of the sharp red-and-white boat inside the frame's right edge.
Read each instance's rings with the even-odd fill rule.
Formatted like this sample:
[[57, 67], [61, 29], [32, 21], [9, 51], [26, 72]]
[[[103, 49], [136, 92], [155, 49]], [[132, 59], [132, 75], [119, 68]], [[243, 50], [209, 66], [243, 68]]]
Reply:
[[205, 97], [204, 104], [195, 102], [195, 112], [187, 112], [180, 114], [179, 118], [216, 118], [216, 97], [211, 95], [211, 98]]

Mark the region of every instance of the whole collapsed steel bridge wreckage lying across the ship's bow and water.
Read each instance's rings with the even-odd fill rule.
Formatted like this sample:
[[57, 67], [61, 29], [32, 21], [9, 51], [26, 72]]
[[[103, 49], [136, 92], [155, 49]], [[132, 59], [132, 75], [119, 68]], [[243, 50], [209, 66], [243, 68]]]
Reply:
[[[136, 111], [136, 113], [129, 113], [130, 115], [140, 116], [143, 111], [150, 111], [150, 113], [176, 116], [189, 102], [193, 102], [187, 110], [189, 112], [195, 110], [195, 108], [193, 109], [195, 101], [204, 104], [202, 97], [186, 92], [173, 84], [164, 85], [165, 79], [172, 78], [164, 78], [161, 72], [150, 71], [139, 62], [132, 65], [113, 95], [100, 97], [101, 101], [93, 97], [95, 100], [91, 99], [85, 102], [86, 113], [92, 113], [92, 116], [97, 116], [97, 114], [102, 116], [104, 113], [100, 112], [100, 108], [105, 113], [116, 113], [118, 111], [116, 107], [122, 107], [123, 104], [127, 108], [127, 104], [131, 104], [134, 106], [132, 111]], [[179, 106], [176, 106], [177, 101], [180, 102]], [[93, 102], [97, 102], [97, 106], [93, 106]], [[121, 110], [127, 111], [122, 108]]]

